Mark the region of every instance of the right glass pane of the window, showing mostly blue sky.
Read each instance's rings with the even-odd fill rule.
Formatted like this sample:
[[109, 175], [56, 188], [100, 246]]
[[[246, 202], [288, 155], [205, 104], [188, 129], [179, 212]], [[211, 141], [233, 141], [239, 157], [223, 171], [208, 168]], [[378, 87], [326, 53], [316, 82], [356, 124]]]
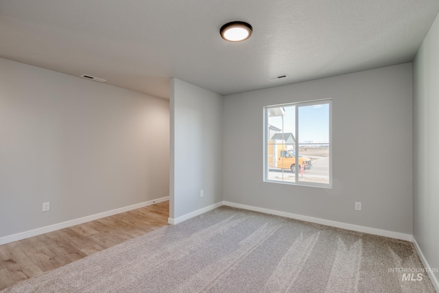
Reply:
[[329, 184], [329, 104], [298, 107], [299, 182]]

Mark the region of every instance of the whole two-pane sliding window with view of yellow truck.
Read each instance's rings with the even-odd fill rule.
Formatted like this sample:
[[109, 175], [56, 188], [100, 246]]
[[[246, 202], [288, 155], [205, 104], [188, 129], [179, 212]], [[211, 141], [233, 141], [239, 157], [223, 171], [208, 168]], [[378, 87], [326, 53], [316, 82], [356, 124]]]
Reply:
[[266, 106], [264, 121], [265, 181], [331, 187], [331, 99]]

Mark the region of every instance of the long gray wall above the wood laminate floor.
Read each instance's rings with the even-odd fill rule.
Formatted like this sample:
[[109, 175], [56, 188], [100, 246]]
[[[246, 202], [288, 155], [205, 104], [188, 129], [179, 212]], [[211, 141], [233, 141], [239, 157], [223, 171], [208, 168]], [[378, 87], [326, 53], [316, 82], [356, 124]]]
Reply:
[[165, 196], [168, 100], [0, 59], [0, 237]]

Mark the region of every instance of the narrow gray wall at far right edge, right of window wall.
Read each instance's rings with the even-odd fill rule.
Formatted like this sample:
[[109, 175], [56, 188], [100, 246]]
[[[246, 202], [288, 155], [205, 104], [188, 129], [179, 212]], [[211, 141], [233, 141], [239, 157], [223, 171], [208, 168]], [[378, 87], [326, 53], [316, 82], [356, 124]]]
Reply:
[[[413, 236], [431, 268], [439, 268], [439, 18], [414, 59]], [[436, 282], [439, 274], [436, 272]], [[437, 283], [436, 283], [437, 284]]]

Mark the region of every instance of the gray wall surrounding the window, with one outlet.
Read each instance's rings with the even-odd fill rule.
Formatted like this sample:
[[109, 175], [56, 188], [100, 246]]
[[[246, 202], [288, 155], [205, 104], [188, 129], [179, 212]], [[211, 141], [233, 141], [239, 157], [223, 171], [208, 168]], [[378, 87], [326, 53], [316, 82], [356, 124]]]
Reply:
[[[327, 98], [333, 189], [264, 183], [263, 106]], [[224, 200], [411, 235], [412, 64], [224, 97]]]

